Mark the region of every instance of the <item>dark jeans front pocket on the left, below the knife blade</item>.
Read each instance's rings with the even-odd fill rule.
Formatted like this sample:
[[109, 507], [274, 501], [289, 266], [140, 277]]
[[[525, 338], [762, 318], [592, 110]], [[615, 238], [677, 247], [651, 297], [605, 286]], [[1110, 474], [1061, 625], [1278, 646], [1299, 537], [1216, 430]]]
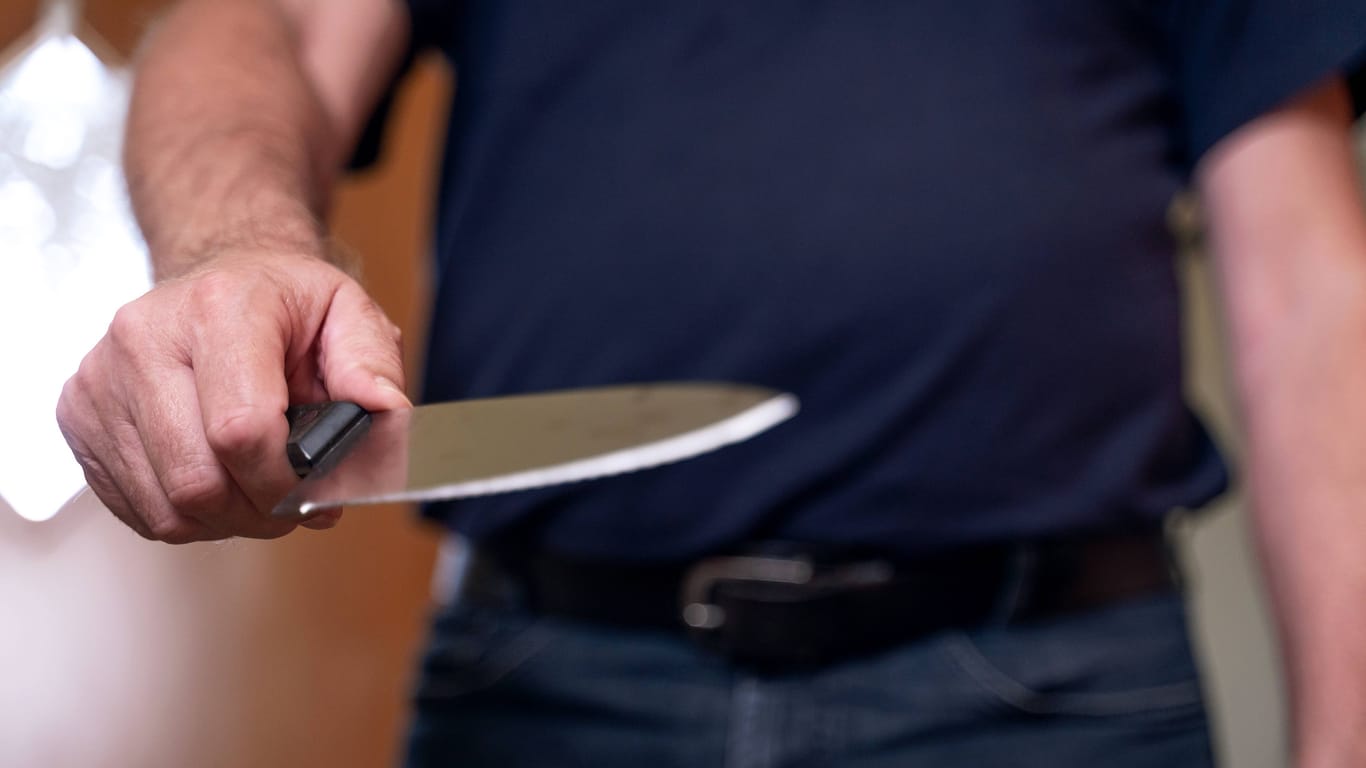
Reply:
[[432, 622], [415, 698], [452, 701], [485, 691], [529, 664], [549, 642], [537, 618], [515, 609], [455, 604]]

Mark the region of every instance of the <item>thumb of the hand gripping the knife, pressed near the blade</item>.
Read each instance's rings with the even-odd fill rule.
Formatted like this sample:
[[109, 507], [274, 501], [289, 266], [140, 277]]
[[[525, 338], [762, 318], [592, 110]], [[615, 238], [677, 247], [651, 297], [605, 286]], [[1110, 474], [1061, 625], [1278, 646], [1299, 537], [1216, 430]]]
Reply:
[[328, 396], [372, 411], [413, 407], [403, 392], [403, 350], [393, 323], [352, 282], [332, 297], [318, 336]]

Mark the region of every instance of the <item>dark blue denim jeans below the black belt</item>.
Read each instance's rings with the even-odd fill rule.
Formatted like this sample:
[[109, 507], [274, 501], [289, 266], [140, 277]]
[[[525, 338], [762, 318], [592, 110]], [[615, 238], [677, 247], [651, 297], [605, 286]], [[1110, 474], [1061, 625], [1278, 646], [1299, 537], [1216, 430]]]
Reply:
[[433, 625], [407, 764], [1186, 768], [1212, 757], [1184, 608], [1161, 594], [779, 676], [683, 634], [456, 604]]

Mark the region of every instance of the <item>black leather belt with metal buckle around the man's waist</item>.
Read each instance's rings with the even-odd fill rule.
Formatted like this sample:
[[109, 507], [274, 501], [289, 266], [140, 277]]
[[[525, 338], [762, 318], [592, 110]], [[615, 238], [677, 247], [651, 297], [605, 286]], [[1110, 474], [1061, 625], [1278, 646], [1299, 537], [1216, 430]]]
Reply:
[[818, 667], [958, 627], [1023, 623], [1173, 589], [1160, 530], [899, 559], [759, 544], [686, 564], [475, 547], [456, 597], [691, 635], [735, 663]]

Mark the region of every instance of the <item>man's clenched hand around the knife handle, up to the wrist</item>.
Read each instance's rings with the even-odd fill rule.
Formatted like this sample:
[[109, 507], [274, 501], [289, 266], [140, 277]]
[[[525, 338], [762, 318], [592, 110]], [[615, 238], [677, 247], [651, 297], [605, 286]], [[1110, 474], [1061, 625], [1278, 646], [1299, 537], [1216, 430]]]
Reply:
[[295, 526], [270, 518], [296, 481], [285, 407], [406, 407], [402, 387], [398, 327], [354, 280], [313, 257], [240, 253], [119, 310], [57, 421], [90, 488], [142, 536], [270, 538]]

